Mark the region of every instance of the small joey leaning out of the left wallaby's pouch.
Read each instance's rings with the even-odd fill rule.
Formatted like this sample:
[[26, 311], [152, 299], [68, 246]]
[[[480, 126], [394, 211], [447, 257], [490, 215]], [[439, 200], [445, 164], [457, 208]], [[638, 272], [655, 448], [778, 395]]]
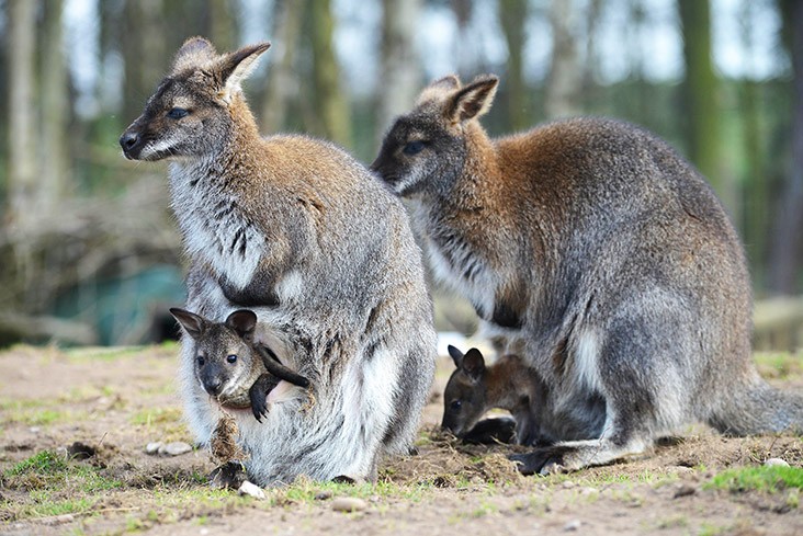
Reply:
[[282, 365], [271, 349], [253, 342], [253, 311], [236, 310], [225, 322], [212, 322], [179, 308], [170, 313], [195, 341], [195, 378], [220, 406], [251, 408], [261, 422], [268, 413], [268, 396], [279, 381], [309, 387], [309, 380]]

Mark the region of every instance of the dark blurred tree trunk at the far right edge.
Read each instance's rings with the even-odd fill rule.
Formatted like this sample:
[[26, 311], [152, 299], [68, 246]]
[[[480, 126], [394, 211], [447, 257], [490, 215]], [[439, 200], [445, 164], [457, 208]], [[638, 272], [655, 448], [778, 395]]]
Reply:
[[792, 294], [801, 292], [803, 267], [803, 2], [781, 0], [781, 9], [794, 75], [792, 161], [776, 212], [769, 287], [776, 293]]

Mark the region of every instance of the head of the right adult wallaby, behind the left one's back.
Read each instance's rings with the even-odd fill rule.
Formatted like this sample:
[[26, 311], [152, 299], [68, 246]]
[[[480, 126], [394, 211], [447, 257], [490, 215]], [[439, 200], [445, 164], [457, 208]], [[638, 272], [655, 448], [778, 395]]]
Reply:
[[479, 127], [498, 83], [491, 75], [466, 85], [455, 76], [432, 82], [385, 135], [371, 169], [399, 195], [448, 194], [468, 156], [466, 137]]

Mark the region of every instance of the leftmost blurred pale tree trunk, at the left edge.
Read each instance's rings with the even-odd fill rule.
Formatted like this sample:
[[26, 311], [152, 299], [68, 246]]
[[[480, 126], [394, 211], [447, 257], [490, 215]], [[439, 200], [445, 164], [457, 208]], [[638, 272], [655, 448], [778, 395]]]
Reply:
[[9, 0], [9, 202], [10, 219], [24, 228], [33, 216], [36, 179], [34, 98], [36, 80], [36, 9], [32, 0]]

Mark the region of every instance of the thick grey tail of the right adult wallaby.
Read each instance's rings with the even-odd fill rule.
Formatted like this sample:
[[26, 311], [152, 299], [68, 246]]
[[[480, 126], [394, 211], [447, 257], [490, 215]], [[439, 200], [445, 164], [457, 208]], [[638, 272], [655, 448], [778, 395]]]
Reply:
[[709, 424], [727, 435], [803, 434], [803, 397], [776, 389], [756, 374], [734, 386]]

